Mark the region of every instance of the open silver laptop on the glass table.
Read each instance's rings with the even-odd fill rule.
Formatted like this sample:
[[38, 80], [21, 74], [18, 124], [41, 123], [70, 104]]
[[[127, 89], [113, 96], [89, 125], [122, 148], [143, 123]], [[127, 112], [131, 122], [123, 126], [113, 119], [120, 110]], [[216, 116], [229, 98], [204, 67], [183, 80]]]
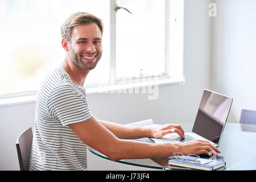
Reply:
[[[233, 98], [205, 89], [197, 111], [191, 133], [185, 133], [185, 140], [177, 134], [167, 134], [163, 138], [152, 138], [155, 143], [180, 143], [193, 139], [208, 140], [214, 146], [220, 145], [226, 120], [228, 119]], [[182, 126], [181, 126], [182, 127]]]

